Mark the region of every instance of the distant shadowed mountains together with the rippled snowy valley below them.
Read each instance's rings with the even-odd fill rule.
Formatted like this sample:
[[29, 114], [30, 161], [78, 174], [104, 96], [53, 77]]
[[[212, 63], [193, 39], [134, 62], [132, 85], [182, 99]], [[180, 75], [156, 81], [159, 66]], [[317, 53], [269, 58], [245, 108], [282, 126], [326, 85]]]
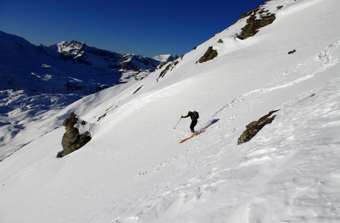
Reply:
[[145, 78], [160, 62], [75, 40], [35, 46], [1, 31], [0, 58], [0, 160], [61, 126], [61, 119], [46, 117], [88, 94]]

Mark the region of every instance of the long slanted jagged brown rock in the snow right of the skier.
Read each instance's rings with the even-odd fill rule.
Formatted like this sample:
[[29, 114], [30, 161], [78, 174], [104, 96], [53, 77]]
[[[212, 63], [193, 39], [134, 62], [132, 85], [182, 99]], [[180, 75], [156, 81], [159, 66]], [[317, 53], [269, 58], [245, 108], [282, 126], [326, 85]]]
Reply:
[[249, 123], [245, 128], [246, 130], [241, 134], [237, 140], [237, 145], [248, 142], [254, 137], [265, 125], [271, 123], [275, 116], [270, 117], [274, 112], [279, 110], [270, 111], [267, 115], [260, 117], [257, 121]]

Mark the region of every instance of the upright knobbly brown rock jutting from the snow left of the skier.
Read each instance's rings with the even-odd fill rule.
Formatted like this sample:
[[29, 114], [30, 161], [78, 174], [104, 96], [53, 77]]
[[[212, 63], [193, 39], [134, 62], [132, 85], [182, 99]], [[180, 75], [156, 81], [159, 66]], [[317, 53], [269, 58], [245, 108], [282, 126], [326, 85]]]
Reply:
[[[80, 149], [91, 140], [89, 131], [80, 134], [79, 129], [74, 127], [78, 122], [79, 119], [73, 112], [63, 122], [66, 132], [62, 138], [62, 146], [64, 149], [62, 156], [66, 156], [67, 154]], [[88, 123], [81, 120], [81, 125], [85, 126], [88, 125]]]

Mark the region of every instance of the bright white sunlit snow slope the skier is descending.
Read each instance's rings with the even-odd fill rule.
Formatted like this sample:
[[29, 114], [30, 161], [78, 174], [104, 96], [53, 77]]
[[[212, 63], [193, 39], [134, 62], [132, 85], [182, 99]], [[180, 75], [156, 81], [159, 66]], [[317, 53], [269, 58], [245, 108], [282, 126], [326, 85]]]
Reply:
[[[95, 124], [92, 139], [56, 158], [60, 127], [0, 162], [1, 222], [339, 222], [339, 2], [265, 7], [276, 19], [255, 36], [234, 36], [244, 18], [163, 78], [165, 68], [46, 118], [74, 112]], [[195, 64], [210, 46], [218, 56]], [[174, 126], [193, 109], [206, 132], [179, 144], [190, 121]], [[247, 124], [278, 109], [237, 146]]]

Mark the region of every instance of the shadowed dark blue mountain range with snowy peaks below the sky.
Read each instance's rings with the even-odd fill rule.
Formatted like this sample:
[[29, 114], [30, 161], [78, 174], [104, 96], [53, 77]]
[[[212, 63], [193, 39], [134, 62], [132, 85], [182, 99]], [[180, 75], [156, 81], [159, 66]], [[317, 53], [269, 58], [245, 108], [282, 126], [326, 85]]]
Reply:
[[2, 31], [0, 57], [3, 79], [0, 90], [79, 95], [95, 93], [129, 79], [142, 79], [160, 63], [150, 57], [89, 47], [76, 40], [35, 46]]

